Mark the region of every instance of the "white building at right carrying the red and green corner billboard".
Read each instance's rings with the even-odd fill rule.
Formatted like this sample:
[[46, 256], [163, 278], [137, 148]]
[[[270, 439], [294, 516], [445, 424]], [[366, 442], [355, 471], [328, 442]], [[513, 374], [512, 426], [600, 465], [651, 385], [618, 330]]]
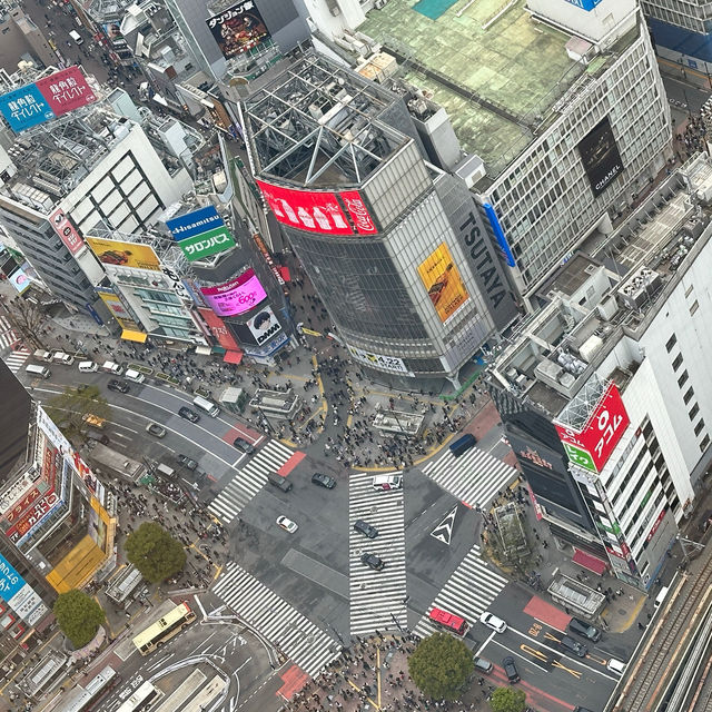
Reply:
[[642, 589], [712, 462], [711, 199], [700, 156], [544, 285], [490, 374], [552, 533]]

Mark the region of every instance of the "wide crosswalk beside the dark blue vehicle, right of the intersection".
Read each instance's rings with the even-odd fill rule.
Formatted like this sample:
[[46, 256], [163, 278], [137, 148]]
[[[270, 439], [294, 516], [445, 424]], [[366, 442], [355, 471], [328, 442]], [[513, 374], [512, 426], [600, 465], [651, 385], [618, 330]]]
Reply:
[[445, 449], [423, 472], [469, 507], [485, 507], [497, 491], [517, 476], [514, 467], [478, 447], [471, 447], [459, 457]]

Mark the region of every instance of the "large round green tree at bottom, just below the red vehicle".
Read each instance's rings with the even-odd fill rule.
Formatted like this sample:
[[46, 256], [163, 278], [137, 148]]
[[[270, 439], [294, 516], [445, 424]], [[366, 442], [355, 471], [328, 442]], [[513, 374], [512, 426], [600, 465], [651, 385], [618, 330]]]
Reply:
[[419, 690], [437, 700], [461, 696], [475, 663], [463, 641], [435, 633], [421, 642], [408, 660], [408, 672]]

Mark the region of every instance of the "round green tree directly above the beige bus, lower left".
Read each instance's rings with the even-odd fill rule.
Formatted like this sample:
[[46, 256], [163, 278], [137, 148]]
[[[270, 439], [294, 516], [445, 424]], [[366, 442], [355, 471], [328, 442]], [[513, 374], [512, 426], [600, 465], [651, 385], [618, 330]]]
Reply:
[[182, 544], [155, 522], [144, 522], [126, 540], [125, 548], [128, 560], [151, 583], [172, 576], [186, 564]]

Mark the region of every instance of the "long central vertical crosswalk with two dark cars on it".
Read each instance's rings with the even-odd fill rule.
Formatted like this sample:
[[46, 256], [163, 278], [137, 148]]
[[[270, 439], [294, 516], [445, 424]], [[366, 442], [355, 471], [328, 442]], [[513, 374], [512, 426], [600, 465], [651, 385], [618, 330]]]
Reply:
[[[399, 474], [399, 473], [389, 473]], [[348, 482], [350, 634], [364, 635], [377, 629], [393, 627], [395, 620], [407, 625], [405, 585], [405, 510], [403, 490], [377, 492], [373, 474], [356, 473]], [[354, 531], [354, 522], [364, 520], [378, 530], [376, 538]], [[386, 562], [374, 571], [362, 563], [364, 553]]]

